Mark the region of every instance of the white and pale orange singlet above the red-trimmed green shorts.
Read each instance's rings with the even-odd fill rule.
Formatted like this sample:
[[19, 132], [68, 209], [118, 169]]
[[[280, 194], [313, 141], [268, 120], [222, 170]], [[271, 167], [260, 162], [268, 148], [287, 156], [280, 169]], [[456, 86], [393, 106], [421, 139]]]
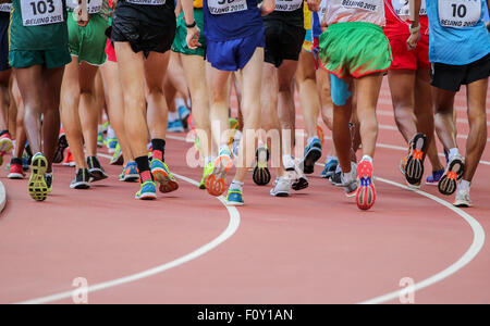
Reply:
[[384, 26], [383, 0], [329, 0], [324, 20], [328, 25], [364, 22]]

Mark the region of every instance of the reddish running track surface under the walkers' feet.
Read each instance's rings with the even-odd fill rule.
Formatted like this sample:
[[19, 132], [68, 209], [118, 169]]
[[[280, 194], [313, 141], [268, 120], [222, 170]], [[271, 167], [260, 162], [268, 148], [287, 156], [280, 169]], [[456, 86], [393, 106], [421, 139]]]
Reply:
[[[464, 93], [457, 105], [465, 108]], [[380, 124], [393, 127], [385, 85], [378, 109]], [[458, 123], [460, 135], [467, 130]], [[390, 128], [381, 128], [379, 142], [405, 147]], [[170, 139], [167, 160], [176, 174], [199, 180], [201, 171], [185, 164], [191, 146]], [[376, 175], [403, 184], [397, 168], [403, 154], [380, 147]], [[490, 161], [489, 148], [482, 160]], [[53, 193], [42, 203], [30, 200], [26, 180], [9, 180], [2, 170], [8, 204], [0, 215], [0, 303], [73, 290], [76, 277], [96, 285], [166, 264], [229, 225], [223, 204], [184, 180], [177, 192], [158, 201], [134, 200], [137, 186], [118, 181], [120, 167], [103, 162], [111, 178], [87, 191], [71, 190], [74, 171], [57, 166]], [[269, 187], [257, 187], [249, 177], [241, 224], [230, 239], [174, 268], [90, 292], [89, 303], [356, 303], [400, 290], [404, 277], [418, 284], [437, 275], [483, 240], [453, 210], [382, 181], [373, 210], [360, 212], [318, 177], [320, 171], [307, 190], [289, 199], [271, 198]], [[480, 164], [471, 189], [476, 208], [465, 211], [485, 234], [490, 234], [489, 175], [490, 165]], [[421, 190], [453, 200], [436, 187]], [[490, 303], [490, 246], [474, 249], [466, 266], [456, 265], [454, 274], [417, 291], [415, 302]], [[400, 302], [394, 298], [387, 302]]]

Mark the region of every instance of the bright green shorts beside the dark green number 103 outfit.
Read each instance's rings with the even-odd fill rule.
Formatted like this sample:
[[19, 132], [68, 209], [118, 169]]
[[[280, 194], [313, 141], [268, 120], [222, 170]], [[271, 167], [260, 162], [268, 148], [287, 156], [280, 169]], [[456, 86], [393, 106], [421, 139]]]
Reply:
[[78, 57], [78, 63], [83, 61], [101, 65], [107, 61], [107, 21], [98, 14], [90, 15], [86, 27], [81, 27], [71, 18], [73, 13], [69, 12], [69, 46], [72, 55]]

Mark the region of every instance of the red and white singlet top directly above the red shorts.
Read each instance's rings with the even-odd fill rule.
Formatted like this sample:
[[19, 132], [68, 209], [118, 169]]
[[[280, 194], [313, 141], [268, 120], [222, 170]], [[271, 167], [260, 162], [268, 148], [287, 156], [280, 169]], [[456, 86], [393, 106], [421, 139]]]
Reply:
[[[387, 17], [387, 25], [384, 26], [384, 34], [387, 36], [399, 36], [411, 34], [409, 26], [409, 7], [408, 0], [384, 0], [384, 13]], [[426, 1], [421, 0], [420, 12], [420, 33], [429, 35], [429, 22], [427, 21]]]

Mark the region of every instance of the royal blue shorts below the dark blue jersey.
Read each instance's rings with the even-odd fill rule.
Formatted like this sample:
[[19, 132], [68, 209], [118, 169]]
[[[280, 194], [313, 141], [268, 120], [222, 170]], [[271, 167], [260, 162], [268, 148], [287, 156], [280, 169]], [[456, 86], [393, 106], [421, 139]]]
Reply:
[[223, 72], [236, 72], [245, 67], [257, 48], [266, 47], [264, 29], [245, 38], [229, 41], [207, 40], [206, 59], [212, 67]]

